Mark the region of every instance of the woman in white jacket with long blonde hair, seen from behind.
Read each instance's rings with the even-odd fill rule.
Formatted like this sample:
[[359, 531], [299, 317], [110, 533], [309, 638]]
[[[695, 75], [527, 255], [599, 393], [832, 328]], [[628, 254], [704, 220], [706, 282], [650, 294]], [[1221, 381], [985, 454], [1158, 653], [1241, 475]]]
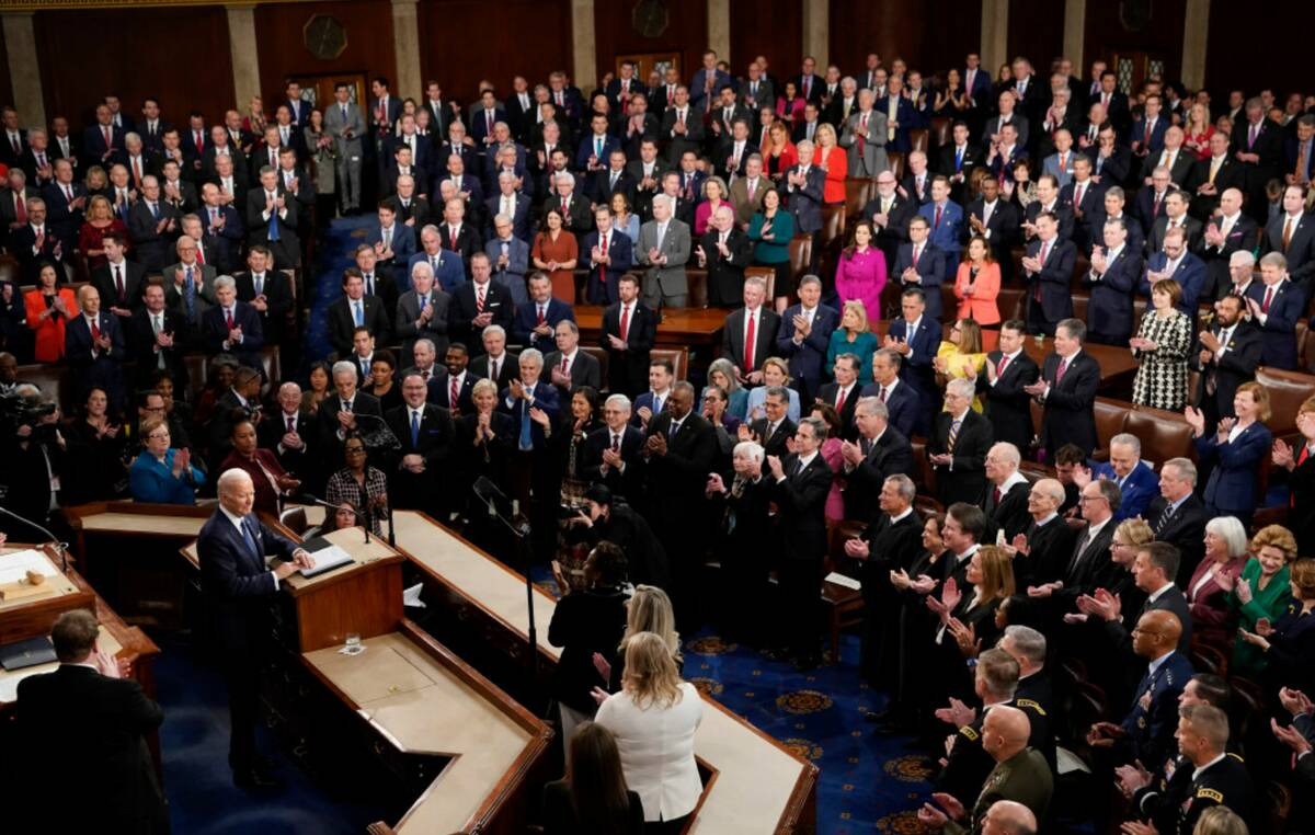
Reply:
[[626, 784], [644, 806], [650, 832], [680, 832], [704, 785], [694, 764], [694, 731], [704, 700], [681, 681], [671, 648], [654, 632], [626, 644], [622, 689], [594, 719], [617, 738]]

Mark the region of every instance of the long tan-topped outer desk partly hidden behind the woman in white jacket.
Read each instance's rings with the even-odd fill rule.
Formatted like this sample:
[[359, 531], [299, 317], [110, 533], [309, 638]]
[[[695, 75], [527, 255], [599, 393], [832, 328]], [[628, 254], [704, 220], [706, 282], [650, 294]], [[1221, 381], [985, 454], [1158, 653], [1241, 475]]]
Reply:
[[[525, 579], [425, 514], [400, 510], [393, 515], [398, 550], [442, 586], [446, 602], [464, 608], [458, 615], [464, 629], [480, 630], [481, 638], [501, 630], [504, 639], [488, 643], [523, 648], [529, 634]], [[547, 643], [555, 609], [552, 596], [535, 588], [538, 648], [550, 664], [560, 656]], [[706, 696], [704, 701], [707, 709], [694, 735], [694, 753], [717, 771], [717, 778], [705, 788], [702, 805], [686, 831], [814, 831], [817, 767], [717, 701]]]

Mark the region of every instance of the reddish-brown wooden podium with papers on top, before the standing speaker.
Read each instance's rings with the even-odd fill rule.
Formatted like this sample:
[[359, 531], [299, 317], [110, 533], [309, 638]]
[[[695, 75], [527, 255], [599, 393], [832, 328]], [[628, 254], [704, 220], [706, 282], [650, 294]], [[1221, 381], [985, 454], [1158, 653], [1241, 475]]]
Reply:
[[355, 564], [310, 579], [295, 573], [283, 581], [296, 610], [299, 650], [341, 646], [347, 632], [364, 639], [394, 631], [402, 619], [405, 558], [377, 537], [367, 543], [359, 527], [337, 530], [323, 539], [350, 554]]

